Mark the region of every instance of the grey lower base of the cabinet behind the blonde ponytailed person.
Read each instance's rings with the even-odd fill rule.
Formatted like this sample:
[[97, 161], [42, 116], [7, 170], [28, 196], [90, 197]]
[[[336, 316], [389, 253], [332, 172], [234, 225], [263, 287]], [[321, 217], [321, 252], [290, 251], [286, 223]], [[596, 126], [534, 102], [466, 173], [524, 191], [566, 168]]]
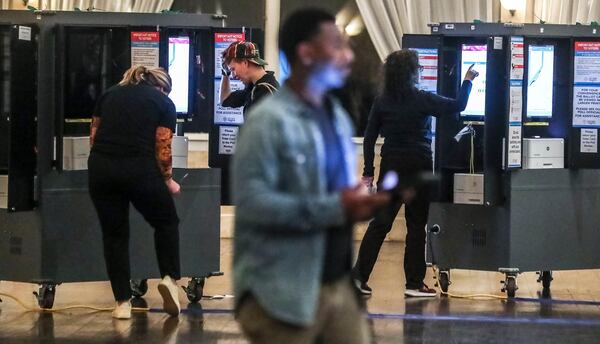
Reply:
[[[185, 176], [185, 178], [183, 178]], [[175, 206], [180, 218], [183, 276], [219, 271], [219, 170], [176, 169], [182, 180]], [[21, 282], [106, 280], [102, 231], [87, 188], [87, 171], [52, 173], [36, 212], [0, 212], [6, 225], [0, 236], [0, 276]], [[155, 263], [153, 229], [131, 209], [132, 278], [160, 277]], [[16, 268], [20, 267], [20, 268]]]

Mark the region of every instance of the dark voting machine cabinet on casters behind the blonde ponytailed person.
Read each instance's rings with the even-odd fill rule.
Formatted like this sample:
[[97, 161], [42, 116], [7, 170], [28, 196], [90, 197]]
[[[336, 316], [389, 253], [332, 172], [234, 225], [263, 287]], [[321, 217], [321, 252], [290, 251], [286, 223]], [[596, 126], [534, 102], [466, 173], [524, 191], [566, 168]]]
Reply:
[[[98, 97], [131, 65], [132, 32], [158, 32], [159, 65], [168, 67], [167, 38], [190, 38], [189, 106], [184, 130], [210, 129], [214, 92], [213, 31], [222, 18], [192, 14], [0, 11], [0, 182], [8, 176], [8, 206], [0, 209], [0, 280], [41, 284], [51, 308], [62, 282], [106, 280], [97, 216], [86, 170], [65, 170], [63, 137], [87, 135]], [[33, 24], [32, 24], [33, 23]], [[187, 80], [186, 80], [187, 79]], [[181, 125], [180, 125], [181, 127]], [[182, 186], [182, 275], [197, 302], [204, 280], [219, 275], [221, 171], [174, 169]], [[0, 184], [0, 197], [2, 197]], [[2, 199], [0, 198], [0, 201]], [[2, 204], [2, 203], [0, 203]], [[159, 277], [153, 231], [132, 209], [132, 290]]]

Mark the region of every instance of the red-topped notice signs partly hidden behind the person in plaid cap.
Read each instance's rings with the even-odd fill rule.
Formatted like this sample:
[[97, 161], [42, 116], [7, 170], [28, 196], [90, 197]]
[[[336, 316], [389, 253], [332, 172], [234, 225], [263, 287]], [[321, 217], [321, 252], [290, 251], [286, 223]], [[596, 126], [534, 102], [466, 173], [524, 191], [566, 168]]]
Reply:
[[[219, 126], [219, 154], [224, 155], [232, 155], [235, 151], [239, 129], [237, 126], [244, 123], [244, 108], [227, 108], [220, 104], [222, 53], [231, 43], [243, 41], [245, 36], [243, 32], [215, 33], [214, 124]], [[230, 87], [233, 92], [244, 89], [245, 85], [240, 80], [230, 78]]]

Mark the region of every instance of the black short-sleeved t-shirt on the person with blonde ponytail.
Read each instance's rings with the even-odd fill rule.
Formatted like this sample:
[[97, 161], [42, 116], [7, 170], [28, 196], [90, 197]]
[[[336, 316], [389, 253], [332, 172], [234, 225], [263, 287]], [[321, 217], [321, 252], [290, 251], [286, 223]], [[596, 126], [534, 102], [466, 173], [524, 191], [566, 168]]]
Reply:
[[140, 83], [113, 86], [94, 110], [100, 117], [92, 152], [115, 156], [155, 157], [156, 129], [175, 131], [175, 105], [164, 93]]

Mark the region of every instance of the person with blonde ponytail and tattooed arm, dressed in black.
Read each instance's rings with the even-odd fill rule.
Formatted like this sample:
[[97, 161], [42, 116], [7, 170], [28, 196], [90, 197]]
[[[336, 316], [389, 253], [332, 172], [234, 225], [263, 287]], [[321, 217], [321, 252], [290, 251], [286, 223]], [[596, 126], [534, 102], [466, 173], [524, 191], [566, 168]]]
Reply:
[[162, 68], [133, 66], [96, 104], [90, 129], [90, 196], [102, 227], [104, 258], [117, 302], [113, 317], [131, 318], [129, 204], [154, 228], [158, 290], [164, 309], [180, 312], [179, 218], [173, 201], [171, 141], [175, 105]]

